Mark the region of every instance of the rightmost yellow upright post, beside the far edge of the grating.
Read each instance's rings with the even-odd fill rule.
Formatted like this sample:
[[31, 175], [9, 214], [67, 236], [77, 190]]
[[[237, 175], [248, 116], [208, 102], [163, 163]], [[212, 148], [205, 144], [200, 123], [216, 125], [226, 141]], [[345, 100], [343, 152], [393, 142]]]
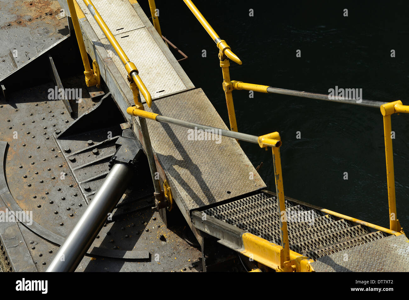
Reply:
[[389, 227], [393, 231], [400, 231], [400, 225], [396, 216], [396, 196], [395, 196], [395, 174], [393, 169], [393, 149], [391, 138], [391, 115], [383, 116], [384, 122], [384, 140], [385, 140], [385, 158], [386, 173], [388, 184], [388, 201], [389, 201]]

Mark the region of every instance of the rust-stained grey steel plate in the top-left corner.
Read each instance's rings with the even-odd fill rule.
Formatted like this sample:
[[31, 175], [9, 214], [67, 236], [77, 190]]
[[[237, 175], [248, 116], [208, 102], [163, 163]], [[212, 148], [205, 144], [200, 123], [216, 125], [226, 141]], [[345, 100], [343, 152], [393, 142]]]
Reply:
[[0, 10], [0, 82], [70, 35], [56, 0], [1, 0]]

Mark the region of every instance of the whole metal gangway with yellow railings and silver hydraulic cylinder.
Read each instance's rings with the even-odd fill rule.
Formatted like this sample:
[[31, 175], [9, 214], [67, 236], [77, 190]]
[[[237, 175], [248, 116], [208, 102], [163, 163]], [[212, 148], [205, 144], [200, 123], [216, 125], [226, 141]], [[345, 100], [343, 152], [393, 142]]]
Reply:
[[[105, 82], [139, 139], [148, 158], [155, 207], [162, 218], [166, 218], [166, 210], [178, 206], [202, 253], [206, 247], [204, 237], [214, 236], [220, 244], [258, 262], [258, 269], [253, 271], [409, 271], [409, 241], [396, 212], [391, 140], [391, 115], [407, 113], [409, 106], [401, 101], [329, 99], [323, 94], [231, 80], [230, 61], [241, 65], [241, 60], [193, 2], [184, 2], [219, 49], [230, 129], [169, 51], [162, 39], [154, 0], [149, 0], [153, 25], [135, 0], [66, 2], [83, 60], [85, 82], [88, 87]], [[238, 132], [234, 90], [380, 109], [384, 121], [389, 229], [284, 196], [280, 135], [277, 131], [262, 136]], [[104, 116], [100, 117], [103, 121]], [[187, 138], [187, 129], [226, 138], [220, 144], [200, 144]], [[266, 189], [240, 142], [271, 147], [274, 192]], [[68, 159], [69, 155], [64, 155]], [[116, 196], [103, 191], [107, 187], [113, 190], [129, 178], [128, 167], [121, 163], [115, 166], [47, 271], [76, 269], [103, 226], [95, 218], [106, 216], [123, 193], [123, 189], [115, 190]], [[62, 255], [65, 260], [60, 259]]]

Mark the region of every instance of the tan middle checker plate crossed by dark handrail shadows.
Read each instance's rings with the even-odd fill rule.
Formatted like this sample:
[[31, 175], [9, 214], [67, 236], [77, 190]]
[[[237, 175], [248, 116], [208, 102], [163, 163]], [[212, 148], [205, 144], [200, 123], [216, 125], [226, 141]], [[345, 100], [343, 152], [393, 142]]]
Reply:
[[[178, 107], [179, 109], [175, 109]], [[146, 111], [180, 120], [227, 129], [202, 89], [156, 100]], [[265, 183], [236, 140], [189, 140], [189, 129], [148, 120], [157, 159], [167, 171], [189, 210], [265, 187]], [[249, 174], [254, 179], [249, 179]]]

